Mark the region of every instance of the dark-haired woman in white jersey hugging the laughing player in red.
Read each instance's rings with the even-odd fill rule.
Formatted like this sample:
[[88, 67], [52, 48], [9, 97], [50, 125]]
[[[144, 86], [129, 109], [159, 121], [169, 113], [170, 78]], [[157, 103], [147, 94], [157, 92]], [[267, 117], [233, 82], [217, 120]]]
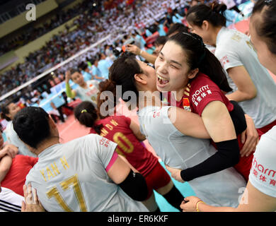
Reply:
[[[131, 90], [151, 94], [151, 102], [145, 101], [141, 95], [138, 96], [140, 130], [166, 165], [188, 169], [189, 172], [185, 175], [190, 179], [190, 186], [196, 194], [202, 194], [207, 203], [219, 206], [226, 203], [230, 206], [237, 205], [237, 191], [244, 184], [241, 174], [229, 166], [224, 170], [214, 169], [212, 164], [212, 169], [194, 168], [199, 162], [212, 157], [216, 150], [207, 139], [209, 134], [200, 116], [178, 107], [163, 106], [160, 93], [156, 92], [153, 68], [137, 61], [133, 56], [123, 54], [111, 66], [109, 80], [113, 86], [121, 85], [122, 93]], [[114, 93], [115, 96], [118, 94]], [[234, 155], [238, 157], [238, 152]], [[235, 157], [230, 161], [232, 160], [236, 161]], [[217, 183], [224, 184], [224, 188], [217, 186]]]

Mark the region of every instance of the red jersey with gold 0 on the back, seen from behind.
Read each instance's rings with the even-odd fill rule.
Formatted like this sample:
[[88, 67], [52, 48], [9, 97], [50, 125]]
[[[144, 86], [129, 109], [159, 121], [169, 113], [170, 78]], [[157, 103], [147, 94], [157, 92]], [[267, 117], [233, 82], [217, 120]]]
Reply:
[[[100, 119], [96, 125], [103, 124], [100, 136], [117, 143], [117, 153], [126, 157], [130, 164], [146, 177], [158, 163], [149, 150], [144, 148], [130, 129], [131, 119], [125, 116], [110, 116]], [[90, 133], [96, 133], [92, 128]]]

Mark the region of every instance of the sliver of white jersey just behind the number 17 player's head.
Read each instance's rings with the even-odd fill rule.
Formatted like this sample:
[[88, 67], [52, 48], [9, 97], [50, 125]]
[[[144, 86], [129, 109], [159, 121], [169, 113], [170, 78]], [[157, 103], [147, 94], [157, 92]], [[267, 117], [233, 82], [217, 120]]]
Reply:
[[6, 129], [4, 130], [8, 143], [15, 145], [18, 148], [19, 155], [29, 155], [31, 157], [38, 157], [34, 153], [31, 153], [29, 148], [18, 138], [16, 131], [13, 129], [13, 122], [8, 121]]

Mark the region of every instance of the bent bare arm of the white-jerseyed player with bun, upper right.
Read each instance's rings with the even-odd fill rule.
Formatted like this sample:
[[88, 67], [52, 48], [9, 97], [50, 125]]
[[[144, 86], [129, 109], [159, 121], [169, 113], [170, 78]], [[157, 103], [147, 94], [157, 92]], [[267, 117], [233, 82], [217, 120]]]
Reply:
[[244, 100], [251, 100], [257, 95], [257, 89], [244, 66], [235, 66], [226, 71], [238, 88], [234, 93], [226, 95], [229, 100], [241, 102]]

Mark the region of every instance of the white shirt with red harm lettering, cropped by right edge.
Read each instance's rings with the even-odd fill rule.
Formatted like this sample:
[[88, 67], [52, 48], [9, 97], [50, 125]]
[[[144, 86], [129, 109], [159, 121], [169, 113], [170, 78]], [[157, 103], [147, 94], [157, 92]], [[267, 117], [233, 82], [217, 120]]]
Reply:
[[263, 134], [257, 145], [249, 181], [256, 189], [276, 198], [276, 126]]

